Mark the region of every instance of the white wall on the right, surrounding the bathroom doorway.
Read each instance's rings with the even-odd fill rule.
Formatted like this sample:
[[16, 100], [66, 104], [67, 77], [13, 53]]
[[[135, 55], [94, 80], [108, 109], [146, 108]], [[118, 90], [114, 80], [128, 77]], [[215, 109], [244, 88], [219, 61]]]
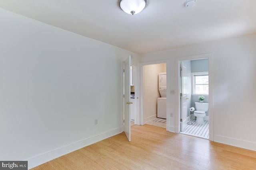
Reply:
[[[223, 39], [188, 47], [142, 55], [141, 62], [168, 59], [170, 80], [175, 78], [177, 57], [213, 54], [214, 141], [256, 150], [256, 34]], [[176, 80], [170, 89], [176, 89]], [[170, 112], [177, 116], [175, 95], [170, 95]], [[170, 117], [170, 126], [178, 126]]]

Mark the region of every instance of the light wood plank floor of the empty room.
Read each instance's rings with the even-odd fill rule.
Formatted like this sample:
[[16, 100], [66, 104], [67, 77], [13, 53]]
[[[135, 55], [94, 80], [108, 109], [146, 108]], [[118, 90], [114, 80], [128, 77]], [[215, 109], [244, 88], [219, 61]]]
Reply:
[[256, 152], [151, 125], [76, 150], [33, 170], [255, 170]]

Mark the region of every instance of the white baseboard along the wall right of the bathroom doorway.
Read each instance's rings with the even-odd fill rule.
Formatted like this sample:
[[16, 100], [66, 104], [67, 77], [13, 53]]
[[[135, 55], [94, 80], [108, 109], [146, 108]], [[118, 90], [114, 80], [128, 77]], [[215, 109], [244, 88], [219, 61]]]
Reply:
[[214, 135], [214, 142], [256, 151], [256, 143], [242, 141], [240, 139]]

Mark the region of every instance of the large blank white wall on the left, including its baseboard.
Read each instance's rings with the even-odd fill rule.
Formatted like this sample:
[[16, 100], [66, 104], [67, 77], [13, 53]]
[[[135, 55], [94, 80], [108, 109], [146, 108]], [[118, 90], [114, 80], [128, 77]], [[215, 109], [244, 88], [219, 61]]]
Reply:
[[0, 16], [0, 160], [32, 168], [122, 132], [122, 63], [138, 55], [6, 10]]

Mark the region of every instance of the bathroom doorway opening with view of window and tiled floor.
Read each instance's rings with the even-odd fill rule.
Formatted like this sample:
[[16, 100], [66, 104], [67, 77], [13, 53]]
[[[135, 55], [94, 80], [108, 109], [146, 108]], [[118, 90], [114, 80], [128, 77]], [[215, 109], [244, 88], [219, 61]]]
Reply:
[[[199, 123], [199, 121], [196, 122], [194, 111], [190, 111], [190, 108], [191, 110], [196, 108], [195, 104], [200, 102], [199, 96], [204, 96], [205, 105], [211, 102], [211, 81], [209, 80], [211, 58], [209, 59], [209, 57], [211, 55], [198, 55], [183, 57], [182, 60], [178, 61], [179, 133], [203, 139], [210, 139], [209, 125], [211, 125], [210, 117], [212, 117], [210, 109], [202, 114], [205, 116], [203, 116], [203, 121]], [[211, 106], [211, 103], [209, 105]]]

